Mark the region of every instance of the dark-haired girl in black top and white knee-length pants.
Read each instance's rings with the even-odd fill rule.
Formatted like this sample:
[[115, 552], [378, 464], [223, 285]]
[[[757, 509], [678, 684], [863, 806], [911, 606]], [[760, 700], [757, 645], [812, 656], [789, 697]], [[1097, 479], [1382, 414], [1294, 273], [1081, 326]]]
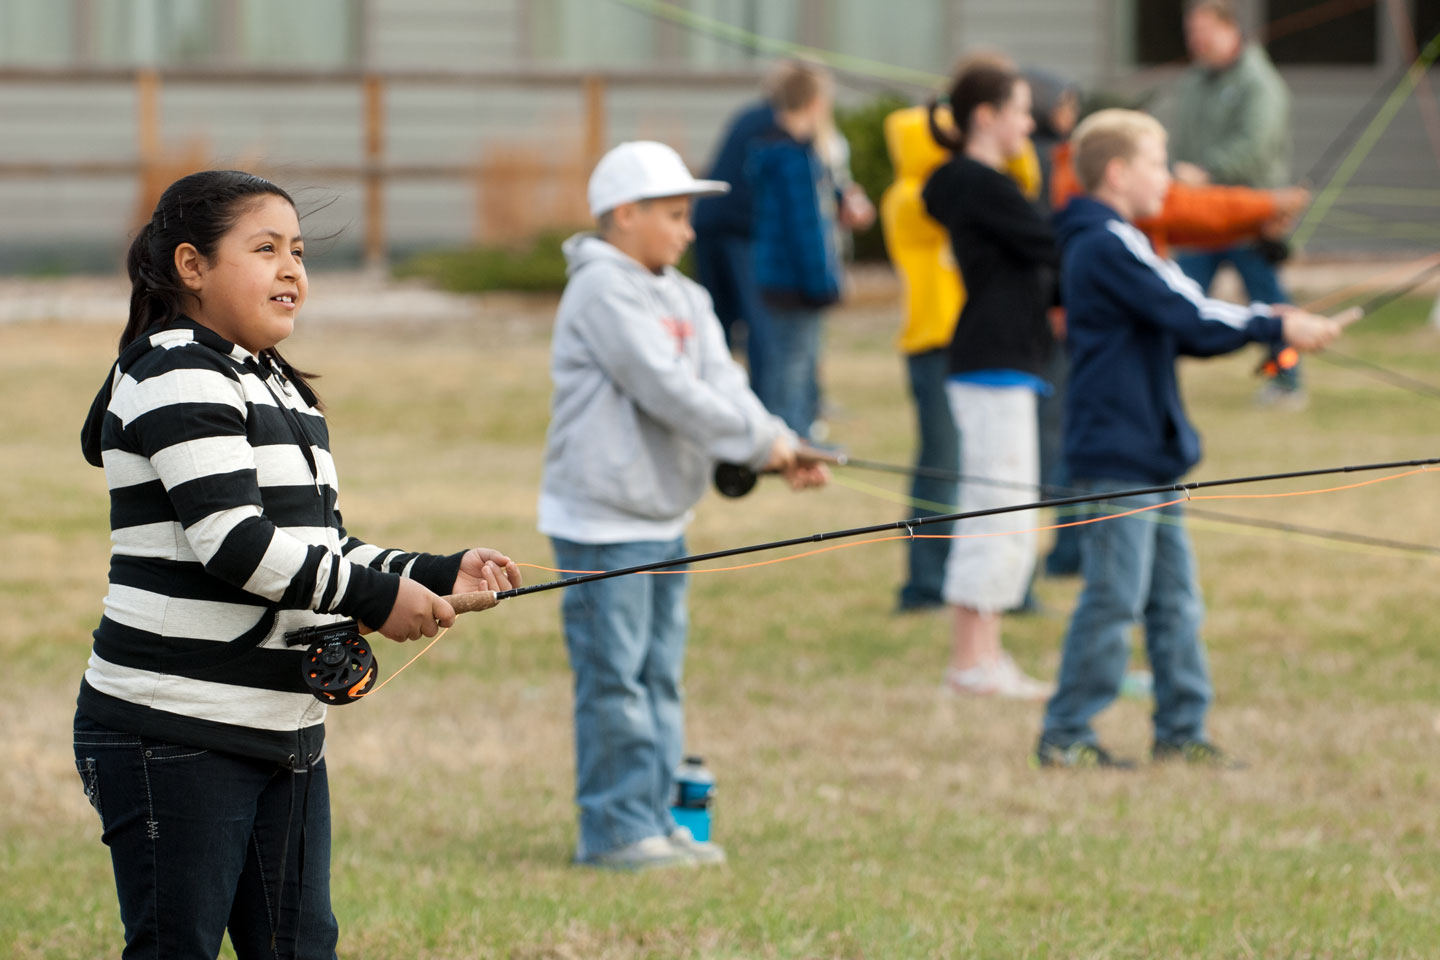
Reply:
[[[965, 66], [950, 91], [955, 122], [935, 138], [955, 157], [924, 186], [926, 210], [950, 235], [968, 296], [949, 347], [946, 393], [960, 432], [960, 474], [999, 484], [960, 485], [960, 510], [1031, 499], [1038, 484], [1035, 397], [1051, 350], [1043, 269], [1057, 265], [1050, 225], [1002, 173], [1034, 128], [1030, 85], [1009, 65]], [[1020, 671], [1001, 646], [1001, 612], [1021, 603], [1035, 566], [1035, 534], [986, 535], [1031, 525], [999, 515], [956, 524], [945, 573], [955, 606], [946, 685], [958, 694], [1040, 699], [1050, 687]]]

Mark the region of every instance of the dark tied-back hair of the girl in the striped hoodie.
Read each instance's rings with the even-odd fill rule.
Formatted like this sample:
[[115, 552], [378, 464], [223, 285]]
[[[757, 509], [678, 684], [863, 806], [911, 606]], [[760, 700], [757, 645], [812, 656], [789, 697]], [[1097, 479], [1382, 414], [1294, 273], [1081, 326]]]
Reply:
[[[190, 243], [206, 261], [215, 259], [220, 237], [235, 226], [246, 209], [264, 197], [279, 197], [295, 206], [279, 186], [240, 170], [206, 170], [180, 177], [160, 194], [150, 222], [140, 229], [130, 253], [125, 272], [130, 275], [130, 320], [120, 335], [120, 348], [144, 337], [157, 327], [174, 322], [186, 314], [193, 294], [176, 272], [176, 249]], [[307, 390], [315, 374], [297, 370], [271, 347], [281, 370], [292, 376]]]

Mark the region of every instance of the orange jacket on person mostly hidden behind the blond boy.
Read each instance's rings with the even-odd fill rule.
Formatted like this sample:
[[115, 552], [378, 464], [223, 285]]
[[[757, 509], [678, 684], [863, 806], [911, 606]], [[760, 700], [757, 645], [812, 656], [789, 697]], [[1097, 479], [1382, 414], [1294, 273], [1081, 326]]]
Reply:
[[[1074, 168], [1074, 150], [1064, 142], [1051, 154], [1050, 204], [1061, 210], [1070, 197], [1084, 193]], [[1269, 190], [1250, 187], [1191, 187], [1171, 184], [1158, 216], [1136, 220], [1161, 256], [1171, 245], [1225, 248], [1253, 237], [1276, 213]]]

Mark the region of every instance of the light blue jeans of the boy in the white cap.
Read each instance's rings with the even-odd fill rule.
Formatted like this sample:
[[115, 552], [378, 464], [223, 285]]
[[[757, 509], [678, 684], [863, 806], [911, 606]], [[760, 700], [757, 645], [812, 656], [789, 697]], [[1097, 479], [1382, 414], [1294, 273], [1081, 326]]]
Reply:
[[[668, 541], [579, 544], [552, 537], [559, 567], [615, 570], [685, 554]], [[684, 573], [634, 574], [564, 592], [560, 616], [575, 671], [576, 859], [675, 829], [670, 815], [684, 756]]]

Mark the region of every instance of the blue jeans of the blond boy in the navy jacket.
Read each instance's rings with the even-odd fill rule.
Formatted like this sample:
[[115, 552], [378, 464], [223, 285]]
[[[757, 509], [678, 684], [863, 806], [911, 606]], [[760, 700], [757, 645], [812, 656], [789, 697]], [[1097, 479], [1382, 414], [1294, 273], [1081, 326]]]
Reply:
[[[1120, 481], [1081, 481], [1103, 492], [1136, 486]], [[1135, 510], [1175, 494], [1090, 504], [1087, 515]], [[1200, 642], [1204, 602], [1184, 511], [1176, 504], [1146, 517], [1122, 517], [1080, 527], [1084, 589], [1070, 617], [1060, 679], [1045, 707], [1041, 738], [1061, 747], [1094, 743], [1090, 720], [1120, 692], [1130, 653], [1129, 629], [1145, 626], [1145, 649], [1155, 674], [1155, 740], [1204, 738], [1211, 685]], [[1159, 520], [1159, 522], [1156, 522]]]

